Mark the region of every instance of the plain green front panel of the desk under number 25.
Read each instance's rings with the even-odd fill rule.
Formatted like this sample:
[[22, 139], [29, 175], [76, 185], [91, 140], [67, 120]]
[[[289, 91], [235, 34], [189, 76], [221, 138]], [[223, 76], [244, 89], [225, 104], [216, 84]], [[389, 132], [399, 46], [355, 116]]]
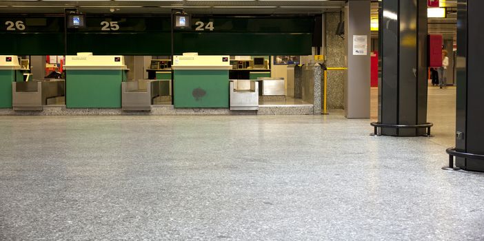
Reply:
[[66, 107], [121, 108], [124, 70], [67, 70]]

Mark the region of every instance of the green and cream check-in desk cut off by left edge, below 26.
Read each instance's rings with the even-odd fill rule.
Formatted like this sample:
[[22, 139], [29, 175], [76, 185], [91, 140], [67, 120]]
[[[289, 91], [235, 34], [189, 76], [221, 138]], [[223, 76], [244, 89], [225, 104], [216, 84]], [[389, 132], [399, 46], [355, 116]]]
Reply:
[[16, 81], [23, 81], [19, 59], [0, 55], [0, 108], [12, 108], [12, 83]]

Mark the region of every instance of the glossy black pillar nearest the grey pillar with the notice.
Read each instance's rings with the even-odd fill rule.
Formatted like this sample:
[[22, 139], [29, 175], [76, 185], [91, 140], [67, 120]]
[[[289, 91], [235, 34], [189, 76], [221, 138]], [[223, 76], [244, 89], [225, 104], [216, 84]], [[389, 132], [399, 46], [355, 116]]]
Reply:
[[379, 123], [383, 136], [423, 136], [427, 123], [427, 1], [380, 3]]

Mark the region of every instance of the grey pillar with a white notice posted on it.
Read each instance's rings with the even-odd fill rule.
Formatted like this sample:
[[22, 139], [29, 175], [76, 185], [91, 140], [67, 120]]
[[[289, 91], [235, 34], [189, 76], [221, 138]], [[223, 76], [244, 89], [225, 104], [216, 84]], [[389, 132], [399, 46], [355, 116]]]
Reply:
[[370, 118], [370, 0], [345, 8], [345, 116]]

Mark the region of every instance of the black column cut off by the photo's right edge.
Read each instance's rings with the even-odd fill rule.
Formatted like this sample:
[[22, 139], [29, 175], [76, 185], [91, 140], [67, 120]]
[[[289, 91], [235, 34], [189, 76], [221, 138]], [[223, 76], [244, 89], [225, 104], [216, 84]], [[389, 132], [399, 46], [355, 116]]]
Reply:
[[[456, 151], [484, 154], [483, 0], [459, 0], [457, 16]], [[484, 160], [456, 158], [456, 166], [484, 171]]]

